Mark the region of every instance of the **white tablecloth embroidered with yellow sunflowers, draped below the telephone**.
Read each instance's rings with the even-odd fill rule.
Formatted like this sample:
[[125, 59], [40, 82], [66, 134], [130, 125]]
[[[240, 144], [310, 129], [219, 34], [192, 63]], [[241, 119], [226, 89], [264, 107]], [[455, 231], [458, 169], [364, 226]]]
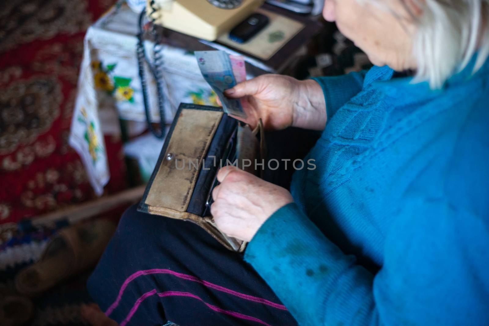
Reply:
[[[114, 133], [118, 118], [146, 121], [136, 59], [138, 14], [127, 5], [114, 6], [89, 27], [78, 80], [70, 145], [81, 156], [97, 195], [110, 178], [104, 133]], [[153, 57], [153, 44], [145, 43]], [[216, 105], [216, 95], [200, 74], [193, 52], [163, 45], [165, 122], [170, 124], [182, 102]], [[160, 120], [155, 81], [146, 71], [151, 119]]]

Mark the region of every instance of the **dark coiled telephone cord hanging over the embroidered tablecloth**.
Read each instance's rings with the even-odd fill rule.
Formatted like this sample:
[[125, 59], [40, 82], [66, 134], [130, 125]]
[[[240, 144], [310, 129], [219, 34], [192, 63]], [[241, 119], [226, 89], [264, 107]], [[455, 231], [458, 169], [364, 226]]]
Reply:
[[[151, 10], [153, 11], [156, 10], [156, 8], [154, 7], [155, 6], [154, 0], [150, 1], [150, 6], [151, 6]], [[151, 34], [154, 37], [153, 53], [154, 53], [155, 63], [154, 65], [151, 65], [146, 56], [146, 50], [144, 48], [144, 43], [143, 43], [144, 16], [146, 16], [146, 9], [143, 9], [141, 14], [139, 15], [139, 33], [137, 34], [137, 45], [136, 45], [137, 65], [139, 71], [139, 78], [141, 79], [141, 91], [143, 93], [144, 113], [146, 114], [146, 122], [148, 123], [148, 129], [151, 131], [151, 133], [155, 135], [156, 138], [162, 139], [165, 136], [165, 109], [163, 104], [164, 102], [163, 90], [162, 90], [163, 88], [161, 87], [161, 80], [163, 77], [161, 73], [161, 66], [163, 65], [163, 56], [161, 55], [161, 51], [163, 50], [163, 47], [161, 46], [159, 40], [157, 39], [158, 36], [153, 20]], [[151, 17], [152, 16], [150, 15], [150, 18]], [[146, 77], [144, 73], [144, 62], [148, 64], [149, 70], [151, 71], [151, 74], [155, 79], [157, 105], [158, 105], [159, 116], [160, 116], [159, 131], [155, 130], [151, 122], [151, 114], [150, 114], [150, 107], [149, 107], [149, 100], [148, 100], [148, 83], [146, 81]]]

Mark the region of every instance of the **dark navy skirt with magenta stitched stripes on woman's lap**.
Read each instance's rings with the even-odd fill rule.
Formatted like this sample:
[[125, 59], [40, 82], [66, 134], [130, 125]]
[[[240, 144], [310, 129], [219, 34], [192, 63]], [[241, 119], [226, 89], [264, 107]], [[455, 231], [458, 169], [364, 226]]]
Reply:
[[297, 325], [243, 255], [199, 226], [129, 208], [88, 282], [121, 326]]

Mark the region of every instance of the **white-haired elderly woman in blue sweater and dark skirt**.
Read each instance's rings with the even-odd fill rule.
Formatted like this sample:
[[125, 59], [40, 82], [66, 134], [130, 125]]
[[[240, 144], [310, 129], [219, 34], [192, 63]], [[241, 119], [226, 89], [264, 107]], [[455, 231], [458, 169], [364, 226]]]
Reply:
[[130, 209], [90, 279], [121, 325], [487, 325], [489, 2], [326, 0], [376, 65], [227, 91], [247, 123], [323, 130], [290, 193], [221, 169], [198, 226]]

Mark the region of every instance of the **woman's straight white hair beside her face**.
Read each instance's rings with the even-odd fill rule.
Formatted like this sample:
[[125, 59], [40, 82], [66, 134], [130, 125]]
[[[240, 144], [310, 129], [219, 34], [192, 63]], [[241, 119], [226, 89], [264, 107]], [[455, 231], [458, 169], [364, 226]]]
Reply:
[[484, 64], [489, 55], [489, 0], [418, 0], [416, 5], [421, 15], [416, 17], [413, 43], [415, 82], [441, 88], [476, 53], [472, 72]]

